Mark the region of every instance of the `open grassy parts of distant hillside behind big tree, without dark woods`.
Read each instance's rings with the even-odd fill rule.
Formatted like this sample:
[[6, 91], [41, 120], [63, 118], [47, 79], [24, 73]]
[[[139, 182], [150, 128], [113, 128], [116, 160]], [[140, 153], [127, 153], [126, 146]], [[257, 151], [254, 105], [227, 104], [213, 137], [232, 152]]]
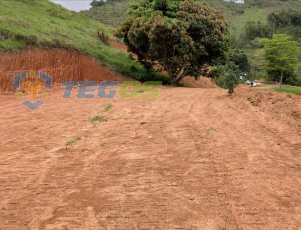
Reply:
[[[263, 50], [258, 47], [241, 45], [245, 40], [242, 37], [246, 25], [249, 22], [260, 22], [262, 25], [267, 25], [267, 16], [271, 12], [301, 11], [301, 3], [298, 1], [246, 0], [245, 4], [235, 4], [223, 0], [200, 0], [200, 2], [205, 2], [225, 15], [231, 33], [232, 48], [244, 49], [254, 68], [260, 66], [263, 60]], [[129, 3], [128, 0], [109, 2], [101, 7], [91, 8], [88, 16], [107, 25], [118, 26], [125, 18]]]

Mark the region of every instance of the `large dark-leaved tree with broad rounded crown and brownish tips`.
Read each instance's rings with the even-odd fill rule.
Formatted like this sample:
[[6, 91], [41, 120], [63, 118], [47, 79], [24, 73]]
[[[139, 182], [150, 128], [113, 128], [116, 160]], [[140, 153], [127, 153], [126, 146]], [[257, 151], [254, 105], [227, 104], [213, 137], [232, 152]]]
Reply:
[[193, 0], [132, 2], [115, 36], [144, 66], [167, 71], [173, 86], [185, 76], [198, 78], [229, 47], [223, 15]]

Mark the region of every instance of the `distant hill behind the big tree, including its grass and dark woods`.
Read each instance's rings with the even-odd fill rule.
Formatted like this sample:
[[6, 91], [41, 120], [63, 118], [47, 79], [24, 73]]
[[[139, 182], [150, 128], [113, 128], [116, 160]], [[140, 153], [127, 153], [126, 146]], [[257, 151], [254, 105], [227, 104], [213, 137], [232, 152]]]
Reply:
[[[285, 0], [247, 0], [244, 4], [222, 0], [202, 0], [225, 15], [229, 23], [232, 49], [244, 50], [252, 69], [263, 59], [259, 38], [286, 33], [301, 45], [301, 2]], [[107, 0], [100, 7], [88, 11], [90, 18], [118, 26], [124, 19], [129, 0]], [[276, 23], [274, 20], [276, 20]]]

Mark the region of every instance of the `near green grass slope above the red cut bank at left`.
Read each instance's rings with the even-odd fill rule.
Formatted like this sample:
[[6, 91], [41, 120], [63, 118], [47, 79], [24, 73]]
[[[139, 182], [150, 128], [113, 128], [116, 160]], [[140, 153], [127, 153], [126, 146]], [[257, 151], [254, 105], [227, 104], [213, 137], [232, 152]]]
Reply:
[[71, 12], [46, 0], [0, 1], [0, 50], [16, 50], [27, 45], [74, 49], [135, 79], [167, 83], [165, 76], [146, 72], [124, 52], [100, 41], [95, 44], [95, 33], [99, 28], [114, 39], [113, 27], [89, 19], [85, 12]]

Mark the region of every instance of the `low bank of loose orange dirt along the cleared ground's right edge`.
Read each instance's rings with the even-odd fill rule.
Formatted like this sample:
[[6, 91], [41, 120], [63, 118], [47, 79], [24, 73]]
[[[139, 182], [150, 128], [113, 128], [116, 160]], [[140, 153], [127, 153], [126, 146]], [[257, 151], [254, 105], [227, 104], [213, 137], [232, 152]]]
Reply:
[[275, 120], [286, 120], [290, 124], [301, 127], [300, 95], [264, 91], [250, 88], [247, 85], [238, 85], [234, 97], [239, 98], [242, 105], [251, 103], [255, 110], [266, 112]]

